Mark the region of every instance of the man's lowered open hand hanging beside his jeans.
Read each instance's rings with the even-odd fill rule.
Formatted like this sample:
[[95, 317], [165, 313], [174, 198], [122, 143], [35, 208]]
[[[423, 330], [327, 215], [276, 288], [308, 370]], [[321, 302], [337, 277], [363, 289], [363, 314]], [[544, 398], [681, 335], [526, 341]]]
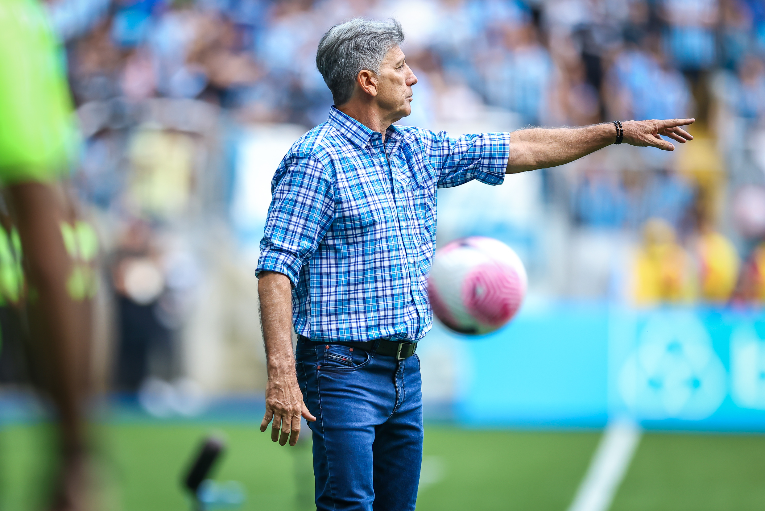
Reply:
[[[311, 422], [316, 420], [303, 402], [294, 369], [269, 371], [269, 382], [265, 388], [265, 415], [260, 423], [260, 431], [265, 431], [273, 420], [271, 440], [284, 445], [289, 438], [289, 444], [295, 445], [300, 436], [301, 417]], [[282, 435], [279, 435], [280, 430]]]

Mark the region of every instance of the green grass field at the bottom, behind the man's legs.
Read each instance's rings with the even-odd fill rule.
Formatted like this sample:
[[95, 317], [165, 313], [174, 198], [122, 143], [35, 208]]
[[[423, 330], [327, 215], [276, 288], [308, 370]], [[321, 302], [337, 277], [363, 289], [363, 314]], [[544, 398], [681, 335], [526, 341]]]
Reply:
[[[103, 509], [190, 509], [180, 474], [205, 425], [143, 423], [99, 431]], [[216, 428], [229, 452], [218, 480], [239, 480], [241, 509], [311, 509], [308, 445], [280, 448], [255, 426]], [[36, 509], [44, 480], [44, 428], [0, 430], [0, 510]], [[474, 431], [429, 426], [417, 509], [565, 511], [597, 445], [597, 432]], [[614, 511], [765, 507], [765, 437], [646, 434]]]

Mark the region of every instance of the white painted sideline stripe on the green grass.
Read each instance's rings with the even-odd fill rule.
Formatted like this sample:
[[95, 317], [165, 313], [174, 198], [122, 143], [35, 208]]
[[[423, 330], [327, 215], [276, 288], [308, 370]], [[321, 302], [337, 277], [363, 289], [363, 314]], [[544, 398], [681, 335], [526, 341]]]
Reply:
[[640, 427], [611, 421], [568, 511], [607, 511], [640, 443]]

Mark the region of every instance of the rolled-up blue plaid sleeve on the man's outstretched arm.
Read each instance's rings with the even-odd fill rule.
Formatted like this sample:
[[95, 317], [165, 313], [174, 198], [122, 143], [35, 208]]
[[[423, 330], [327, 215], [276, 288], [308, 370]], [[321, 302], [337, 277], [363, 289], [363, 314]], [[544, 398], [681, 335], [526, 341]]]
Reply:
[[510, 150], [509, 132], [478, 133], [450, 137], [433, 133], [425, 151], [438, 174], [438, 187], [456, 187], [477, 179], [486, 184], [502, 184]]

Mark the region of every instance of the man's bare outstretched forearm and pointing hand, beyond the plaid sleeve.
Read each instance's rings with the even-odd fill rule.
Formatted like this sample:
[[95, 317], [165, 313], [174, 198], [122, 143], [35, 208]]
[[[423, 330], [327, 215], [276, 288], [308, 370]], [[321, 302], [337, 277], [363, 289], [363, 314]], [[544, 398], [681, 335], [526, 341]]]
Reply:
[[[674, 151], [675, 146], [660, 135], [685, 144], [686, 140], [693, 140], [693, 137], [680, 126], [692, 124], [694, 120], [625, 121], [622, 123], [623, 143]], [[557, 167], [611, 145], [614, 140], [616, 128], [613, 122], [583, 128], [521, 129], [510, 134], [507, 174]]]

